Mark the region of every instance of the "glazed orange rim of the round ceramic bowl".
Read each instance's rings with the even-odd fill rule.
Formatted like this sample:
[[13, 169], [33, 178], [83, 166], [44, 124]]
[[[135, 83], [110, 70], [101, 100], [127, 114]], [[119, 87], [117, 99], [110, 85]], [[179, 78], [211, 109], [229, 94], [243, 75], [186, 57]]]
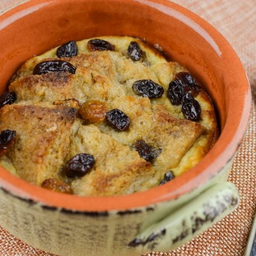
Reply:
[[[186, 15], [200, 27], [205, 29], [207, 33], [214, 38], [214, 41], [218, 44], [220, 50], [222, 52], [225, 51], [226, 56], [228, 56], [228, 58], [223, 57], [223, 62], [228, 63], [229, 67], [227, 78], [229, 82], [233, 81], [234, 83], [237, 83], [237, 81], [239, 81], [239, 84], [242, 84], [243, 90], [241, 90], [240, 101], [236, 102], [236, 109], [229, 107], [225, 127], [220, 138], [211, 149], [211, 154], [207, 154], [195, 167], [171, 182], [167, 182], [163, 186], [130, 195], [83, 197], [61, 194], [32, 185], [21, 178], [15, 177], [0, 166], [0, 184], [4, 190], [23, 199], [25, 198], [40, 202], [44, 205], [73, 211], [103, 212], [110, 210], [128, 210], [136, 207], [153, 205], [159, 202], [170, 201], [171, 199], [177, 199], [212, 179], [231, 161], [246, 132], [251, 108], [250, 85], [241, 61], [238, 59], [230, 44], [217, 29], [184, 7], [167, 0], [131, 1], [140, 2], [149, 6], [160, 4], [163, 7], [170, 7], [174, 11]], [[25, 2], [4, 12], [0, 16], [0, 23], [11, 17], [13, 14], [40, 3], [55, 4], [58, 2], [58, 0], [30, 0], [29, 2]], [[115, 0], [115, 2], [122, 1]], [[210, 165], [208, 164], [209, 162], [211, 162]]]

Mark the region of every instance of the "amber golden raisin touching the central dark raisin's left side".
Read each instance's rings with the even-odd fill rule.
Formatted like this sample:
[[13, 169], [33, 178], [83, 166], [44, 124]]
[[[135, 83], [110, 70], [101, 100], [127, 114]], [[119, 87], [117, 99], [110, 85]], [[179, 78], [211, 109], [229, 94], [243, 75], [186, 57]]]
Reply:
[[83, 119], [92, 123], [100, 123], [105, 119], [107, 108], [104, 102], [89, 100], [83, 103], [78, 112]]

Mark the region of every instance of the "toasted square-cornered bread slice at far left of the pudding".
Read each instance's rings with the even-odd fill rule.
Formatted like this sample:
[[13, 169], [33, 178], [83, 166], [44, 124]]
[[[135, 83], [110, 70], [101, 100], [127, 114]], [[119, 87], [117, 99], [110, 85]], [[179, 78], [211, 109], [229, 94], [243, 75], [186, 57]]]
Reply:
[[21, 178], [36, 185], [58, 177], [68, 153], [73, 108], [6, 105], [0, 109], [0, 130], [17, 132], [8, 156]]

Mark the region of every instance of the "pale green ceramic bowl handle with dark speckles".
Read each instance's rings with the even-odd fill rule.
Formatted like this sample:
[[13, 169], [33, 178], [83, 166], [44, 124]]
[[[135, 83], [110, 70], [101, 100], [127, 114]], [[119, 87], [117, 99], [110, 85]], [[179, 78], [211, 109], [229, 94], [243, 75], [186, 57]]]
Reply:
[[130, 246], [138, 250], [143, 246], [149, 251], [178, 247], [235, 210], [238, 202], [238, 192], [233, 183], [218, 183], [140, 233]]

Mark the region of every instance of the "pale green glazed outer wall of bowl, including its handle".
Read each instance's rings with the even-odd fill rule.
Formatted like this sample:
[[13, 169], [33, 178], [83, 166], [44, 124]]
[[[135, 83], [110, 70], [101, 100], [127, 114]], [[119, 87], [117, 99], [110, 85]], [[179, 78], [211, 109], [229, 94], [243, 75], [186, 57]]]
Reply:
[[2, 188], [0, 223], [22, 241], [60, 256], [172, 250], [236, 209], [237, 190], [225, 181], [231, 162], [187, 195], [129, 211], [73, 212], [22, 199]]

